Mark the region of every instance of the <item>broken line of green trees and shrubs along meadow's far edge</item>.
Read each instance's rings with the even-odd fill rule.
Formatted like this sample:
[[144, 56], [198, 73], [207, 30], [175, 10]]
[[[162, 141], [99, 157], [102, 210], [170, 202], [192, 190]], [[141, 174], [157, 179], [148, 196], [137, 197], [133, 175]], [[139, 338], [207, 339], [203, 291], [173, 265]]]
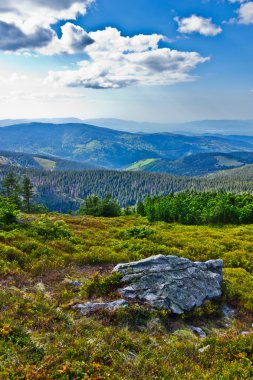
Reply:
[[[34, 203], [34, 197], [34, 186], [28, 176], [20, 181], [10, 172], [4, 177], [0, 209], [5, 205], [7, 211], [9, 210], [10, 219], [11, 214], [15, 214], [12, 210], [26, 213], [46, 212], [44, 206]], [[77, 214], [95, 217], [116, 217], [137, 213], [146, 216], [151, 222], [177, 222], [189, 225], [253, 223], [253, 195], [248, 193], [236, 195], [230, 192], [192, 190], [170, 192], [165, 196], [147, 196], [144, 201], [139, 200], [135, 205], [124, 208], [118, 200], [107, 193], [104, 197], [89, 195], [80, 200], [80, 204]], [[69, 212], [72, 213], [71, 210]]]

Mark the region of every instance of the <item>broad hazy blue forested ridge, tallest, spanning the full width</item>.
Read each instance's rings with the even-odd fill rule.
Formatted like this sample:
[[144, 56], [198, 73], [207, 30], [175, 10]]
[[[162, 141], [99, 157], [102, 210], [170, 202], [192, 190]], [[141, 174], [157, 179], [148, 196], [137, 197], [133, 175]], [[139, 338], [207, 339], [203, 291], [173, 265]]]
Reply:
[[252, 151], [253, 137], [134, 134], [87, 124], [30, 123], [0, 128], [0, 146], [8, 151], [54, 155], [120, 169], [145, 159]]

